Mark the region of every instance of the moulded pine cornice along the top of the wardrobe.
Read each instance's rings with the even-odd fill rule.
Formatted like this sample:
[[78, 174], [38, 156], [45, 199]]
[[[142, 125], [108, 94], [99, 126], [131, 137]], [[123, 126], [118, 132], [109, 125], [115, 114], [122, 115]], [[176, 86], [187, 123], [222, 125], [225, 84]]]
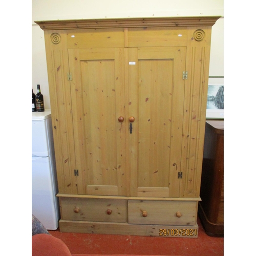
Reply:
[[221, 16], [158, 17], [158, 18], [104, 18], [77, 20], [35, 21], [42, 30], [139, 28], [139, 27], [196, 27], [213, 26]]

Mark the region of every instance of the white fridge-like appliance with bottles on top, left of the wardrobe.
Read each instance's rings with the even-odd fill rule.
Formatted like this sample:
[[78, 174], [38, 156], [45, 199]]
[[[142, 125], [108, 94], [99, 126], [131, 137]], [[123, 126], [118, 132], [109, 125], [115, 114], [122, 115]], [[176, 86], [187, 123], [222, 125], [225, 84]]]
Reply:
[[51, 111], [32, 112], [32, 214], [46, 229], [58, 228], [57, 193]]

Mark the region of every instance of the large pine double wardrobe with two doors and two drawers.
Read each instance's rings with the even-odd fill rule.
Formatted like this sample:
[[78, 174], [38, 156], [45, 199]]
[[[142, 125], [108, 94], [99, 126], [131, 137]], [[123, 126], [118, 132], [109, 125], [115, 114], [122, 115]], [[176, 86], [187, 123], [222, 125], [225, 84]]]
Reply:
[[60, 231], [197, 238], [218, 18], [35, 22], [45, 33]]

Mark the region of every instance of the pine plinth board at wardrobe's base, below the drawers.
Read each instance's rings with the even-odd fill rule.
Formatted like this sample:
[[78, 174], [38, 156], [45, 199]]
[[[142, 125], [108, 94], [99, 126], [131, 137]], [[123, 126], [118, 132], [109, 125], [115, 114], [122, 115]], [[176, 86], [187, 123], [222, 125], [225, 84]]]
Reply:
[[198, 225], [164, 226], [136, 225], [127, 223], [90, 222], [90, 221], [59, 221], [60, 232], [124, 234], [129, 236], [197, 238]]

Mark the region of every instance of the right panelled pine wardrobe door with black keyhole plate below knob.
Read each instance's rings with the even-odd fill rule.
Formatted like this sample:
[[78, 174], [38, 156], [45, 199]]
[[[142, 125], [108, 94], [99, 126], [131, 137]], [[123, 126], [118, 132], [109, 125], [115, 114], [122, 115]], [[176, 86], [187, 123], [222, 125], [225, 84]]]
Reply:
[[179, 197], [185, 57], [186, 47], [127, 49], [131, 196]]

